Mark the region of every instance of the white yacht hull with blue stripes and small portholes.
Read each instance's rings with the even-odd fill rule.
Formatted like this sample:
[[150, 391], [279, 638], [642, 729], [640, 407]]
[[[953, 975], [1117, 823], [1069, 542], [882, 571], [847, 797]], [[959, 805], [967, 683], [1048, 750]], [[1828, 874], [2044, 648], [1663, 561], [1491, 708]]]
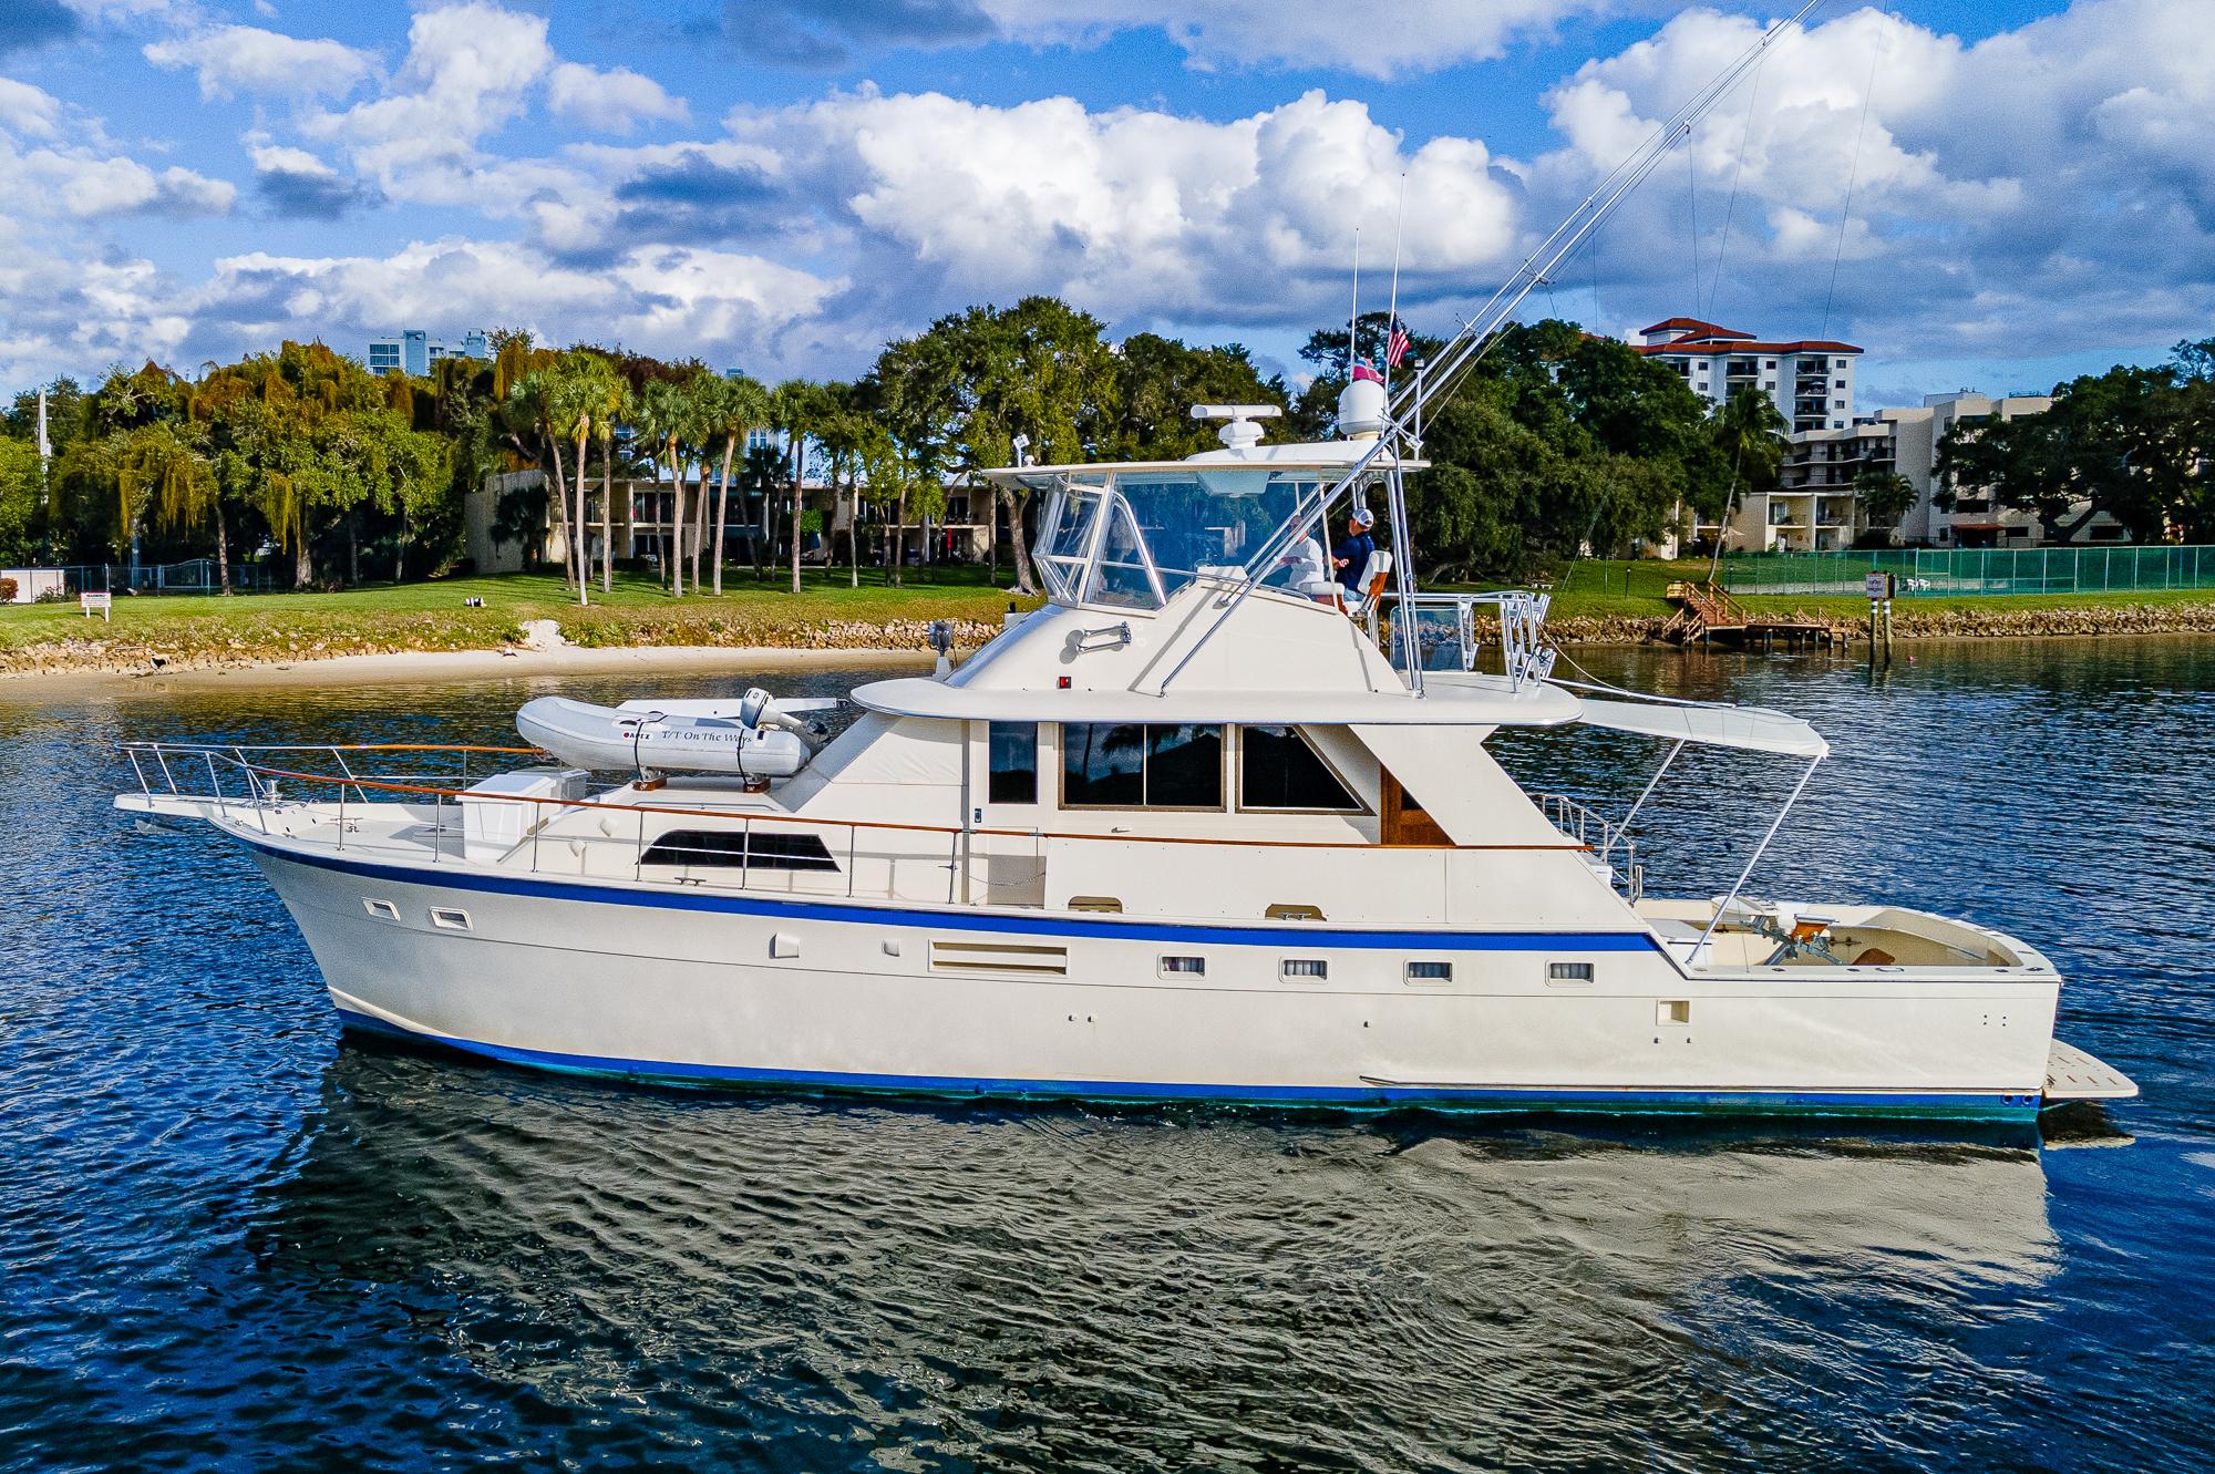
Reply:
[[[348, 1025], [689, 1084], [2029, 1120], [2058, 992], [2051, 976], [1688, 978], [1644, 932], [930, 910], [388, 865], [239, 837]], [[1167, 972], [1172, 956], [1205, 972]], [[1411, 980], [1411, 958], [1453, 976]], [[1294, 976], [1294, 961], [1325, 976]], [[1550, 985], [1559, 961], [1590, 963], [1593, 983]]]

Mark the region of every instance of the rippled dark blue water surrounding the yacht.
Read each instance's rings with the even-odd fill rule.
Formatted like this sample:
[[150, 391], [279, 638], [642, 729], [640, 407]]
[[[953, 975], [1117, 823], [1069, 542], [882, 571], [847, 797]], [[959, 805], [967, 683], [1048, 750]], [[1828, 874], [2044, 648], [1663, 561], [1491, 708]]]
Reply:
[[[1838, 755], [1754, 890], [2036, 938], [2062, 1034], [2144, 1100], [2027, 1149], [363, 1047], [241, 854], [117, 823], [102, 744], [498, 741], [614, 682], [0, 695], [0, 1467], [2206, 1470], [2215, 646], [1925, 648], [1876, 684], [1584, 660], [1816, 717]], [[1500, 746], [1617, 803], [1657, 759]], [[1785, 781], [1688, 755], [1650, 890], [1725, 887]]]

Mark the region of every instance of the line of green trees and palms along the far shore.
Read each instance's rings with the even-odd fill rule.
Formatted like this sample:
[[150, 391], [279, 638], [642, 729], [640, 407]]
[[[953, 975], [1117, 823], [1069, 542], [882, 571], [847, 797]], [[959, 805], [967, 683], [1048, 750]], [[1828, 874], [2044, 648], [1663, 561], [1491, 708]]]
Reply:
[[[1364, 314], [1353, 356], [1382, 365], [1389, 332], [1387, 314]], [[137, 549], [146, 562], [215, 558], [228, 580], [241, 553], [266, 553], [297, 587], [427, 578], [463, 560], [465, 494], [538, 469], [534, 487], [498, 498], [498, 529], [560, 531], [580, 600], [627, 562], [611, 542], [618, 478], [671, 500], [651, 564], [671, 595], [722, 591], [738, 529], [753, 575], [797, 589], [804, 533], [820, 529], [808, 482], [828, 485], [851, 529], [848, 575], [868, 560], [895, 582], [904, 531], [941, 520], [948, 487], [981, 494], [975, 474], [1010, 465], [1017, 438], [1039, 463], [1174, 460], [1214, 445], [1194, 403], [1278, 405], [1282, 438], [1327, 438], [1349, 372], [1345, 325], [1309, 334], [1294, 387], [1238, 343], [1110, 341], [1052, 297], [941, 316], [853, 381], [766, 385], [525, 332], [496, 332], [492, 347], [490, 361], [443, 359], [421, 376], [284, 343], [197, 374], [146, 363], [89, 390], [58, 378], [44, 463], [38, 392], [16, 394], [0, 414], [0, 560], [117, 562]], [[1438, 347], [1413, 336], [1398, 372]], [[2211, 383], [2215, 341], [2188, 345], [2164, 370], [2062, 385], [2047, 416], [1965, 425], [1943, 465], [1951, 482], [1991, 485], [2040, 516], [2071, 516], [2091, 494], [2133, 536], [2204, 536]], [[1710, 414], [1681, 374], [1624, 343], [1564, 321], [1511, 325], [1424, 423], [1431, 469], [1409, 480], [1418, 562], [1446, 580], [1528, 578], [1661, 538], [1688, 513], [1717, 520], [1774, 487], [1783, 429], [1765, 394]], [[1900, 487], [1867, 491], [1898, 500]], [[1019, 489], [990, 496], [1014, 584], [1030, 589], [1034, 509]]]

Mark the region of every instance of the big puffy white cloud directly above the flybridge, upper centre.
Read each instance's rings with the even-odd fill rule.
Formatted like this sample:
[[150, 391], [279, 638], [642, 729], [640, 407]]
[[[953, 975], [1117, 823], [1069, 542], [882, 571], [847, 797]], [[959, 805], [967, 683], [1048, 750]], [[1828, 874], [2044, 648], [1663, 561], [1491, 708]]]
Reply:
[[1364, 104], [1322, 93], [1220, 124], [855, 93], [729, 126], [769, 153], [791, 208], [828, 201], [826, 228], [884, 270], [919, 266], [941, 305], [1059, 292], [1110, 316], [1282, 321], [1325, 281], [1338, 292], [1356, 224], [1391, 228], [1402, 173], [1422, 274], [1486, 270], [1513, 237], [1482, 142], [1409, 155]]

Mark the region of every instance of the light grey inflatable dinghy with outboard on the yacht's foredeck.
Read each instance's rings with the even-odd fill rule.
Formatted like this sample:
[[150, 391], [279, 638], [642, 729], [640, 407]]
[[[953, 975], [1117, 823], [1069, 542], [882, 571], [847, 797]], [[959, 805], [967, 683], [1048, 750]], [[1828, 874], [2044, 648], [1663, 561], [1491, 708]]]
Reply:
[[738, 702], [625, 702], [591, 706], [538, 697], [516, 713], [516, 730], [565, 764], [600, 772], [735, 772], [793, 777], [808, 766], [808, 724], [797, 715], [837, 699], [777, 702], [753, 688]]

